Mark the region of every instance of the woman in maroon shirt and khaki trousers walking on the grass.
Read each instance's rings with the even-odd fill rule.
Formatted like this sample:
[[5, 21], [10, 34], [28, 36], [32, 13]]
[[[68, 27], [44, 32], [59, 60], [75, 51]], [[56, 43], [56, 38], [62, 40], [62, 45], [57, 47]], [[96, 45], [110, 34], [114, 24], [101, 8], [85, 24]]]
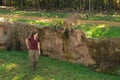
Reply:
[[37, 32], [33, 32], [32, 35], [26, 39], [26, 46], [29, 50], [30, 66], [32, 70], [35, 70], [40, 55], [40, 40]]

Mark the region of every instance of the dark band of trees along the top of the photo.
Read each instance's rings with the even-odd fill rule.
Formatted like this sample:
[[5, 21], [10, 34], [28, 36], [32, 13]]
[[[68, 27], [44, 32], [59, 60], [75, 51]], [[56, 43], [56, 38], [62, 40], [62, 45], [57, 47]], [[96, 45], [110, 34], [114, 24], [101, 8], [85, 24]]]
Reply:
[[80, 12], [114, 12], [120, 9], [120, 0], [0, 0], [0, 5], [33, 10], [59, 9]]

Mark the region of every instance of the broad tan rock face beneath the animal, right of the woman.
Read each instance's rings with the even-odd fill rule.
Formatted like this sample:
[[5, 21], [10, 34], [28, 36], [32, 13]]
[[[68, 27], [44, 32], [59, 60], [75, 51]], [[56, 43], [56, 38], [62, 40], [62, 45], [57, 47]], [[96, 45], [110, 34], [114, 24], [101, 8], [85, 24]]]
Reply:
[[44, 55], [88, 66], [95, 62], [89, 55], [85, 39], [81, 30], [61, 34], [48, 29], [44, 31], [41, 47]]

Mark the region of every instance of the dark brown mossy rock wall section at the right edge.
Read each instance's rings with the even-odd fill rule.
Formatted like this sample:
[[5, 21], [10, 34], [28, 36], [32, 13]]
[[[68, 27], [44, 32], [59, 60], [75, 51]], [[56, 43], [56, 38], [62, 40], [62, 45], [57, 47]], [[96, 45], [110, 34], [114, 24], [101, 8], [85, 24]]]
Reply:
[[114, 70], [120, 66], [120, 38], [87, 39], [88, 50], [99, 70]]

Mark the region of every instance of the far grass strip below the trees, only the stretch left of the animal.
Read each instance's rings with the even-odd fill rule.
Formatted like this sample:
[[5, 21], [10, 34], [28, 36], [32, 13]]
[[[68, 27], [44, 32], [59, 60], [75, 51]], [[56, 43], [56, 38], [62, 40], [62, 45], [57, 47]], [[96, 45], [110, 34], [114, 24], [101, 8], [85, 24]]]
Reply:
[[67, 18], [70, 13], [60, 12], [36, 12], [36, 11], [15, 11], [15, 10], [4, 10], [0, 9], [0, 14], [6, 15], [19, 15], [19, 16], [34, 16], [34, 17], [45, 17], [45, 18]]

